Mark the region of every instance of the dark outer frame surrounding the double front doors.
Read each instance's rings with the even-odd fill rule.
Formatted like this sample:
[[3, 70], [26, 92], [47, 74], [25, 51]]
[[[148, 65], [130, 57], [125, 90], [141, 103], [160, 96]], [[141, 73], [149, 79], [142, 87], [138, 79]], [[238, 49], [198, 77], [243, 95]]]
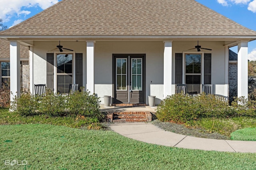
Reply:
[[[118, 102], [116, 100], [116, 58], [118, 57], [128, 57], [130, 56], [130, 58], [132, 57], [142, 57], [142, 91], [143, 91], [143, 103], [142, 104], [146, 104], [146, 54], [112, 54], [112, 96], [113, 96], [113, 104], [119, 104], [120, 102]], [[128, 60], [130, 60], [130, 58], [128, 57]], [[130, 63], [130, 61], [129, 61]], [[130, 64], [128, 64], [129, 67]], [[129, 70], [129, 69], [128, 69]], [[130, 75], [131, 76], [131, 75]], [[130, 81], [130, 76], [128, 76], [128, 79]], [[127, 84], [128, 84], [128, 79], [127, 79]], [[127, 86], [127, 85], [126, 85]], [[130, 92], [128, 92], [130, 93]], [[130, 98], [130, 96], [128, 96], [128, 98]], [[129, 101], [129, 100], [128, 100]], [[129, 102], [128, 102], [129, 103]]]

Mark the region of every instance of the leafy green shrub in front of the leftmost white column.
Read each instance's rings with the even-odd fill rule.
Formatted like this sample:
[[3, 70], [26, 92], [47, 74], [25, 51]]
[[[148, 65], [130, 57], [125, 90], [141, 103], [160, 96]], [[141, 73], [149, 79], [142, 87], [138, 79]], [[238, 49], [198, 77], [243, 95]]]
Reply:
[[20, 97], [14, 96], [10, 109], [18, 111], [20, 115], [28, 116], [36, 114], [38, 102], [35, 96], [30, 91], [25, 91], [20, 94]]

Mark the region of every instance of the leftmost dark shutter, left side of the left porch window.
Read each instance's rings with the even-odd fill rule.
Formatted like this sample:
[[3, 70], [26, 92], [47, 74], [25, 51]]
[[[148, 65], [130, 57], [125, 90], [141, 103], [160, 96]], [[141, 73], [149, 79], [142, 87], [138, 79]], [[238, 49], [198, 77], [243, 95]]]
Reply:
[[51, 91], [54, 91], [54, 54], [47, 53], [46, 54], [46, 87]]

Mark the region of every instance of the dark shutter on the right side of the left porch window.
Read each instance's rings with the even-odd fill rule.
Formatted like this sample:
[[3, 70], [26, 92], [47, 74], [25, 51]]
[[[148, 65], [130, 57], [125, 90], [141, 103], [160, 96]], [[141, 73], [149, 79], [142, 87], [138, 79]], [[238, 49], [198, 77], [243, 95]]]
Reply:
[[83, 54], [76, 53], [76, 84], [78, 89], [83, 86]]

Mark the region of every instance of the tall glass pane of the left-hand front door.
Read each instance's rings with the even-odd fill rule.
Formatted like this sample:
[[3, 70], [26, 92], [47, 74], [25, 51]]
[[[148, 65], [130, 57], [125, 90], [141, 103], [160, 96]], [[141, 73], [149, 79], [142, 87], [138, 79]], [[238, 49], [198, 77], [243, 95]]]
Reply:
[[126, 90], [127, 86], [127, 59], [116, 59], [116, 90]]

